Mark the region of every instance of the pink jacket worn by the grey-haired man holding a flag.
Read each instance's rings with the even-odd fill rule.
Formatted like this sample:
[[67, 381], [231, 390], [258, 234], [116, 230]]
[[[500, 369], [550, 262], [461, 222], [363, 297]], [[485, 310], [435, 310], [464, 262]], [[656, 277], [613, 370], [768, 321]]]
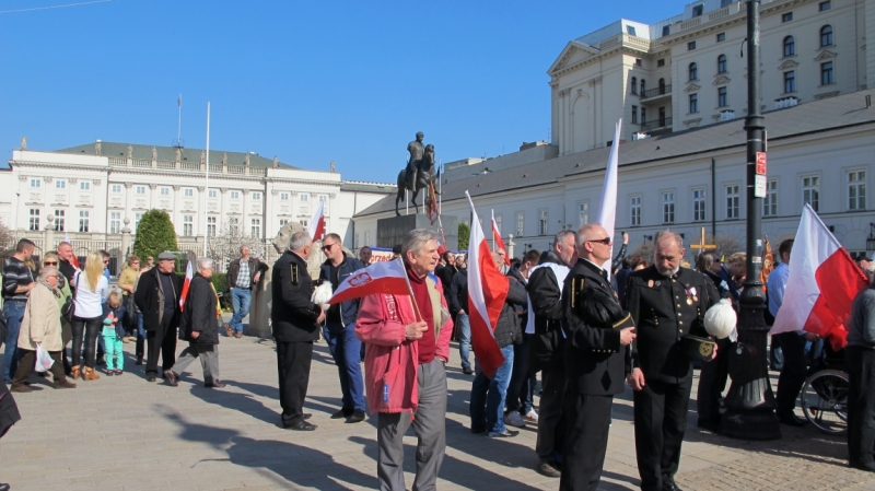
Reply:
[[[446, 311], [446, 299], [436, 277], [429, 276], [429, 288], [435, 289], [432, 299], [434, 318], [445, 318], [435, 329], [435, 356], [450, 360], [450, 337], [453, 319]], [[436, 295], [434, 294], [436, 293]], [[424, 308], [424, 306], [420, 306]], [[443, 312], [444, 314], [442, 314]], [[364, 351], [364, 387], [371, 413], [410, 411], [416, 413], [419, 401], [419, 344], [405, 339], [404, 330], [416, 322], [413, 303], [408, 295], [374, 294], [362, 299], [355, 320], [355, 336], [368, 343]]]

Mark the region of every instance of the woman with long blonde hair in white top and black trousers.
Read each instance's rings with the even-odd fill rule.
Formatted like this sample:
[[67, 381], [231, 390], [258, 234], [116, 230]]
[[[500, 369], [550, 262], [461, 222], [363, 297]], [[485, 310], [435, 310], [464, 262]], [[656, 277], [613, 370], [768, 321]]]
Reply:
[[82, 379], [96, 381], [94, 373], [94, 355], [97, 335], [101, 332], [103, 319], [103, 301], [109, 296], [109, 282], [103, 276], [103, 256], [91, 253], [85, 261], [85, 269], [73, 276], [73, 379], [80, 374], [82, 366], [82, 338], [85, 341], [85, 370]]

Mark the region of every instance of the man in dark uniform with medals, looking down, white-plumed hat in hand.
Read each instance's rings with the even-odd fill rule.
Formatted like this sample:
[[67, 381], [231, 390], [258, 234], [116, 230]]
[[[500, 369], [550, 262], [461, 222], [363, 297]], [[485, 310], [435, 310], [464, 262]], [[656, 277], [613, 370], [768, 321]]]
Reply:
[[[692, 359], [681, 351], [687, 335], [707, 337], [703, 316], [712, 302], [703, 274], [680, 268], [680, 235], [654, 238], [653, 266], [629, 276], [626, 306], [637, 326], [632, 343], [635, 455], [641, 489], [677, 490], [675, 472], [687, 428]], [[716, 355], [714, 348], [711, 355]]]

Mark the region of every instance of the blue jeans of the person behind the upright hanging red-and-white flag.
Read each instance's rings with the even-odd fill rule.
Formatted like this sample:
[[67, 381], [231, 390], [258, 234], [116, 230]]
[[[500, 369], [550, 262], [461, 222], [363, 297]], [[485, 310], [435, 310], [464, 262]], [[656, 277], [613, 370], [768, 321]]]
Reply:
[[471, 384], [470, 414], [471, 431], [476, 433], [483, 430], [503, 433], [508, 429], [504, 425], [504, 398], [513, 372], [513, 344], [502, 348], [501, 354], [504, 355], [504, 363], [491, 379], [483, 374], [479, 360], [475, 359], [477, 376]]

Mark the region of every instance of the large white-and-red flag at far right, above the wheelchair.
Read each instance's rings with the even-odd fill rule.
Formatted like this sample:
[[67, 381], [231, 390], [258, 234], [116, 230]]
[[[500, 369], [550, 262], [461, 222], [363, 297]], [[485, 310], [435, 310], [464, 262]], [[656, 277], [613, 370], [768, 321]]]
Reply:
[[808, 204], [802, 211], [789, 266], [784, 302], [769, 334], [804, 329], [829, 338], [836, 350], [844, 348], [851, 304], [868, 278]]

